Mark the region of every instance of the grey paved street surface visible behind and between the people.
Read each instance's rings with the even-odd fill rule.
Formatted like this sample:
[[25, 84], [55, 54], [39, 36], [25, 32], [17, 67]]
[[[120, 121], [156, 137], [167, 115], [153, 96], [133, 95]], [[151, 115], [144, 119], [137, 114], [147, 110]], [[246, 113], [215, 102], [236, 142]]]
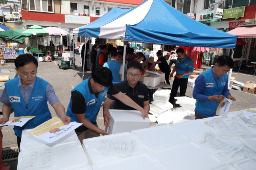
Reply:
[[[57, 66], [57, 61], [53, 61], [49, 63], [48, 62], [38, 63], [38, 77], [41, 77], [47, 82], [49, 82], [50, 84], [52, 84], [55, 90], [55, 93], [58, 96], [58, 99], [63, 104], [65, 109], [67, 109], [68, 104], [70, 102], [70, 97], [71, 97], [70, 91], [74, 87], [76, 87], [80, 82], [82, 82], [82, 68], [80, 63], [81, 63], [81, 57], [76, 57], [76, 64], [78, 65], [78, 68], [75, 68], [75, 71], [74, 71], [75, 77], [73, 76], [72, 69], [63, 70], [59, 68]], [[15, 71], [14, 63], [6, 63], [6, 66], [4, 67], [8, 68], [12, 72]], [[86, 79], [90, 76], [90, 74], [84, 73], [84, 76], [85, 76], [84, 79]], [[233, 72], [232, 77], [235, 77], [236, 81], [240, 81], [243, 83], [249, 80], [256, 82], [256, 77], [253, 77], [251, 75], [244, 74], [244, 73], [238, 74], [237, 72]], [[170, 82], [172, 84], [172, 81]], [[192, 97], [192, 91], [193, 91], [193, 88], [188, 87], [186, 91], [186, 96]], [[236, 98], [236, 102], [234, 102], [234, 105], [230, 106], [230, 110], [229, 110], [230, 112], [256, 107], [255, 105], [256, 95], [233, 90], [233, 89], [231, 89], [230, 92], [232, 96]], [[52, 117], [57, 116], [53, 107], [51, 107], [50, 104], [48, 105], [52, 113]], [[2, 115], [0, 115], [0, 117], [2, 117]], [[12, 113], [10, 117], [14, 117], [14, 113]], [[105, 126], [103, 123], [102, 108], [100, 109], [100, 112], [98, 114], [97, 122], [100, 129], [105, 129]], [[14, 135], [14, 131], [12, 128], [13, 126], [2, 127], [3, 148], [17, 147], [16, 136]], [[11, 161], [12, 162], [11, 170], [12, 169], [16, 170], [16, 167], [15, 167], [16, 161]]]

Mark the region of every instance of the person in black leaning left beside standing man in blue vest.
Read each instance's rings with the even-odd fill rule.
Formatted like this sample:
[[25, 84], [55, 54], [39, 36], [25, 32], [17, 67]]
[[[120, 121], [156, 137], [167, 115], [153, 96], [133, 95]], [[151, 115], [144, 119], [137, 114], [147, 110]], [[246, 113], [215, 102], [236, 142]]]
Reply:
[[154, 63], [158, 64], [160, 70], [165, 73], [166, 84], [170, 85], [169, 76], [170, 76], [171, 69], [170, 69], [166, 59], [163, 57], [163, 53], [162, 53], [161, 50], [158, 50], [156, 55], [158, 57], [158, 60], [156, 62], [154, 62]]

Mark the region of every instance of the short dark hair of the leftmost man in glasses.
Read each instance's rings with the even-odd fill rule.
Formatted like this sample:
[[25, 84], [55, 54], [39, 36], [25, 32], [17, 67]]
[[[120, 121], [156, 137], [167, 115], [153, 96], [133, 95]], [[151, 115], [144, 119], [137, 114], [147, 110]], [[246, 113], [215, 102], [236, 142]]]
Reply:
[[31, 62], [36, 64], [36, 68], [38, 67], [38, 62], [34, 56], [32, 56], [30, 54], [22, 54], [17, 57], [14, 64], [15, 64], [16, 68], [19, 69], [19, 67], [23, 67], [24, 65], [31, 63]]

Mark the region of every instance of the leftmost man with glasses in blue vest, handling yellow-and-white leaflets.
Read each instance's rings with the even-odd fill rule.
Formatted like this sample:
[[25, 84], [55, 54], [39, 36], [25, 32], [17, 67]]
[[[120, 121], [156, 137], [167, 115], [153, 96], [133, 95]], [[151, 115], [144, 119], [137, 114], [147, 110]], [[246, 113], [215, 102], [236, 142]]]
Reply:
[[[36, 76], [38, 62], [35, 57], [30, 54], [20, 55], [15, 60], [15, 66], [20, 77], [4, 84], [5, 88], [0, 98], [0, 102], [3, 103], [3, 117], [0, 119], [0, 123], [3, 125], [9, 120], [12, 107], [14, 117], [36, 116], [23, 127], [14, 126], [13, 128], [20, 149], [21, 134], [24, 129], [35, 128], [52, 118], [47, 101], [64, 124], [70, 123], [71, 118], [66, 116], [65, 108], [55, 95], [52, 85]], [[12, 100], [12, 98], [19, 100]]]

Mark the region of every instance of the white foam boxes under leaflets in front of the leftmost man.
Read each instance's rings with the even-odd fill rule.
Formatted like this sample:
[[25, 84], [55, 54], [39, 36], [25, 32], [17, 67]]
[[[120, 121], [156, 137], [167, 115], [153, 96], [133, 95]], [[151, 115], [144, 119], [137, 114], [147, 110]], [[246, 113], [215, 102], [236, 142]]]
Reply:
[[[29, 146], [35, 147], [54, 147], [54, 170], [91, 170], [86, 154], [82, 149], [82, 145], [78, 140], [75, 131], [68, 133], [61, 139], [58, 139], [54, 143], [46, 143], [36, 137], [28, 134], [32, 129], [26, 129], [22, 131], [22, 138], [20, 143], [20, 153], [18, 157], [17, 170], [21, 170], [22, 159], [25, 159], [25, 154], [28, 152], [26, 149]], [[51, 169], [47, 169], [51, 170]]]

